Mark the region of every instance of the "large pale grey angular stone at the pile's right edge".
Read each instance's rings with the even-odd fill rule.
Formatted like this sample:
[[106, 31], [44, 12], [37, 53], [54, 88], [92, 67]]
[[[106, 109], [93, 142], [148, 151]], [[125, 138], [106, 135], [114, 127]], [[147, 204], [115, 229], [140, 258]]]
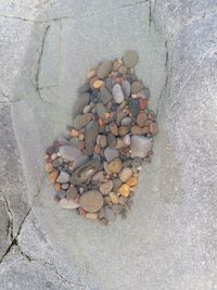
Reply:
[[149, 138], [133, 135], [131, 137], [131, 157], [145, 157], [152, 148], [152, 142]]

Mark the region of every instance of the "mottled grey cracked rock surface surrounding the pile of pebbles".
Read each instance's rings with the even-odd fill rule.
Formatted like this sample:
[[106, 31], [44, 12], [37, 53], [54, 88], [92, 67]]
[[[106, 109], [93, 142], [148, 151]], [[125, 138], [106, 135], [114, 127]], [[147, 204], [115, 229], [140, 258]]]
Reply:
[[[0, 1], [0, 290], [217, 289], [216, 10]], [[159, 134], [133, 212], [104, 228], [54, 204], [43, 151], [72, 123], [86, 72], [126, 49]]]

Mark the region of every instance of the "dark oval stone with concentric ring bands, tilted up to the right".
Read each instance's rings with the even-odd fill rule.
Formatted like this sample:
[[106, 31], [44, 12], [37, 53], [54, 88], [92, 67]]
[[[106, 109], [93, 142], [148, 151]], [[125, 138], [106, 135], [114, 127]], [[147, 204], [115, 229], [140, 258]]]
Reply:
[[100, 169], [100, 159], [94, 157], [93, 160], [88, 161], [72, 174], [71, 182], [75, 186], [86, 182]]

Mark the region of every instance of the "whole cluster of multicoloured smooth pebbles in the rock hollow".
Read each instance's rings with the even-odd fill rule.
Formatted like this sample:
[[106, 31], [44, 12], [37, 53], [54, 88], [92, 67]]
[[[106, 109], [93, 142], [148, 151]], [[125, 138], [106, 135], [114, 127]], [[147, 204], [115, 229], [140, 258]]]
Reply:
[[79, 88], [77, 116], [68, 138], [46, 151], [54, 200], [107, 225], [131, 211], [142, 163], [152, 155], [157, 133], [150, 90], [135, 74], [136, 51], [90, 70]]

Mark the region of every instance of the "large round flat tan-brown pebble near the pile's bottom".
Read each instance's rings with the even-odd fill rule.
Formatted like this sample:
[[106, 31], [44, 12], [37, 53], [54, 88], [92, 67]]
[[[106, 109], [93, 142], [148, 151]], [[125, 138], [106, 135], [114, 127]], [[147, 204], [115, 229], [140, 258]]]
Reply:
[[79, 203], [85, 211], [95, 213], [103, 206], [103, 197], [97, 190], [89, 190], [82, 193]]

